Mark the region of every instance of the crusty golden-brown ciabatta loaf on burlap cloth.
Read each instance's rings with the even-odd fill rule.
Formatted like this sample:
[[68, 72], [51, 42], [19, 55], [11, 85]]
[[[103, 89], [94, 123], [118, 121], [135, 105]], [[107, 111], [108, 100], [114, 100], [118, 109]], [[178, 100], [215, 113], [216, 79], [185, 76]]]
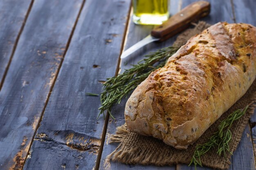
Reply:
[[186, 149], [256, 77], [256, 27], [217, 23], [153, 71], [126, 103], [128, 129]]

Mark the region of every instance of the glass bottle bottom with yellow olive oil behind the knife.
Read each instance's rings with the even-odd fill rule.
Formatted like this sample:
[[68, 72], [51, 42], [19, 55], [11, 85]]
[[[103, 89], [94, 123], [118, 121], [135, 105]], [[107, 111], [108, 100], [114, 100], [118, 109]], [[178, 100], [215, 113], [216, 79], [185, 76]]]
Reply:
[[169, 18], [169, 0], [133, 0], [133, 22], [161, 25]]

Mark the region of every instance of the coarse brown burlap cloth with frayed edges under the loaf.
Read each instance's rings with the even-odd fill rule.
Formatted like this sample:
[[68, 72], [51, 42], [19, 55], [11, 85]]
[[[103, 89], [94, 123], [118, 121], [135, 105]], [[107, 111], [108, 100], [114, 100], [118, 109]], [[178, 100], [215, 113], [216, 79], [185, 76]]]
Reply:
[[[184, 44], [191, 36], [200, 33], [209, 27], [205, 22], [199, 22], [193, 29], [188, 29], [177, 37], [175, 46]], [[234, 91], [234, 93], [236, 93]], [[119, 142], [119, 146], [108, 156], [108, 160], [119, 161], [126, 164], [142, 164], [155, 166], [172, 166], [178, 163], [189, 164], [197, 144], [208, 141], [213, 132], [218, 130], [220, 121], [225, 119], [230, 113], [237, 109], [244, 108], [252, 101], [256, 101], [256, 81], [249, 88], [247, 93], [238, 100], [227, 112], [225, 112], [204, 134], [186, 150], [178, 150], [164, 144], [154, 137], [139, 135], [127, 130], [126, 125], [119, 126], [115, 135], [110, 138], [111, 142]], [[250, 105], [243, 117], [234, 122], [231, 127], [232, 139], [229, 144], [231, 152], [234, 152], [242, 137], [243, 130], [254, 112], [256, 104]], [[206, 155], [201, 157], [202, 165], [210, 168], [228, 169], [231, 155], [227, 159], [223, 155], [217, 154], [217, 148], [211, 149]]]

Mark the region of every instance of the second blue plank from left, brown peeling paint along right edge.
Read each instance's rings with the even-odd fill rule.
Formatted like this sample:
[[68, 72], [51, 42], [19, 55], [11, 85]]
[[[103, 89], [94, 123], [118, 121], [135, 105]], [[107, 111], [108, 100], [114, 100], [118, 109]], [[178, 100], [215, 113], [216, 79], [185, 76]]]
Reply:
[[1, 170], [20, 170], [82, 0], [36, 0], [0, 91]]

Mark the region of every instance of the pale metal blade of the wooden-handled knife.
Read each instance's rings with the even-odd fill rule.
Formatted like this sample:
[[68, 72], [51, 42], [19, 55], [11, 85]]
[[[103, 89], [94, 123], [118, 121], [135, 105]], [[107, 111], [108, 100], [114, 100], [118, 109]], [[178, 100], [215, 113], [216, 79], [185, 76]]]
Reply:
[[144, 38], [143, 40], [140, 40], [139, 42], [131, 46], [129, 49], [124, 51], [124, 53], [122, 53], [121, 55], [121, 58], [128, 57], [131, 53], [133, 53], [134, 51], [137, 51], [138, 49], [145, 46], [146, 44], [150, 42], [158, 41], [158, 40], [160, 40], [160, 38], [155, 38], [152, 35], [148, 35], [146, 36], [146, 38]]

